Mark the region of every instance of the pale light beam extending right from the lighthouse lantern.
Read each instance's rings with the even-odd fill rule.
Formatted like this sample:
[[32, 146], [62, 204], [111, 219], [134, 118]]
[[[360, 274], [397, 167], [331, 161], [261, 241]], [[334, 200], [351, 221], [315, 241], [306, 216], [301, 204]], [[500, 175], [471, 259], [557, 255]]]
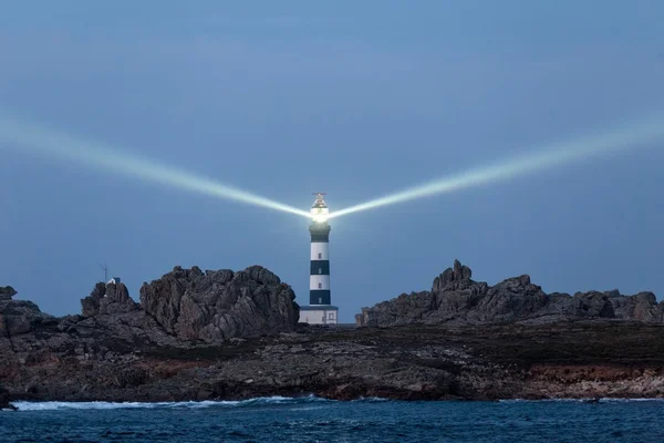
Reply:
[[487, 185], [531, 174], [537, 171], [584, 159], [609, 152], [643, 147], [646, 142], [664, 138], [664, 116], [658, 115], [640, 123], [605, 131], [598, 135], [587, 136], [571, 142], [557, 143], [548, 150], [525, 155], [501, 164], [470, 169], [452, 177], [429, 182], [422, 186], [376, 198], [345, 209], [335, 210], [330, 218], [340, 217], [361, 210], [394, 205], [416, 198], [450, 193], [471, 186]]

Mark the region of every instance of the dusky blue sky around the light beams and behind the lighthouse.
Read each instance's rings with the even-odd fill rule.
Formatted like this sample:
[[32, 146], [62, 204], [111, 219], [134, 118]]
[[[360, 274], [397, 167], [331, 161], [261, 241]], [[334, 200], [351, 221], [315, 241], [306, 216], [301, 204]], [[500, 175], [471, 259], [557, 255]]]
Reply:
[[[658, 1], [24, 1], [0, 111], [308, 209], [664, 111]], [[193, 4], [187, 4], [193, 3]], [[80, 311], [174, 266], [259, 264], [308, 301], [307, 220], [0, 150], [0, 285]], [[662, 143], [331, 222], [332, 299], [478, 280], [664, 293]]]

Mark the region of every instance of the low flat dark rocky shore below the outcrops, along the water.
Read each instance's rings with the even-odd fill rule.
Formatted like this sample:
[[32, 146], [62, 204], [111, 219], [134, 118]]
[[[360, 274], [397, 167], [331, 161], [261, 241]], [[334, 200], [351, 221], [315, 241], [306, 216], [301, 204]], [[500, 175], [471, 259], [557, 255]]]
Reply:
[[14, 400], [663, 398], [664, 328], [583, 321], [307, 330], [117, 362], [63, 359], [4, 378]]

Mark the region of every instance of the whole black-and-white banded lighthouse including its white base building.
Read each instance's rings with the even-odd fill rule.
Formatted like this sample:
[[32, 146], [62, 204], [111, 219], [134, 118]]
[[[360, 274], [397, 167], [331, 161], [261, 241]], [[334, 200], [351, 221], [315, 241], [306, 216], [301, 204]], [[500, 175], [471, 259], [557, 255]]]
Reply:
[[311, 206], [311, 260], [309, 272], [309, 306], [300, 307], [300, 322], [336, 324], [339, 308], [332, 306], [330, 291], [330, 209], [323, 199], [325, 193], [314, 193]]

